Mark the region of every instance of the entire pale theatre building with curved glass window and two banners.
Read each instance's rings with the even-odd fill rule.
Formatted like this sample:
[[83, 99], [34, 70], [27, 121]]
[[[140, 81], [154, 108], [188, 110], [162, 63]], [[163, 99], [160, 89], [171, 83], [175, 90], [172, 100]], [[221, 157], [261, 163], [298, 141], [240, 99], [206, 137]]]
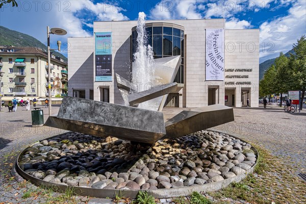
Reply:
[[[68, 38], [68, 94], [123, 104], [116, 73], [131, 80], [137, 21], [96, 21], [94, 36]], [[258, 107], [259, 30], [226, 30], [225, 19], [147, 20], [154, 58], [181, 56], [167, 107]], [[103, 59], [101, 62], [100, 59]], [[104, 63], [104, 69], [96, 63]]]

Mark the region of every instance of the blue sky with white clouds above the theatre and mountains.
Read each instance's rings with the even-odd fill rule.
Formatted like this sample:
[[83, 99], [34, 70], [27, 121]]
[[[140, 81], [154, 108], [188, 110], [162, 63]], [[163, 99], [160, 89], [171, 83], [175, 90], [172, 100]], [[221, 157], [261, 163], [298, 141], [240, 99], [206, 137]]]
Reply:
[[[63, 44], [67, 37], [93, 35], [93, 21], [147, 19], [225, 18], [226, 29], [260, 29], [260, 62], [286, 53], [306, 33], [305, 0], [17, 0], [18, 8], [0, 10], [0, 25], [46, 42], [46, 26], [65, 29], [66, 36], [52, 35]], [[68, 45], [69, 46], [69, 45]]]

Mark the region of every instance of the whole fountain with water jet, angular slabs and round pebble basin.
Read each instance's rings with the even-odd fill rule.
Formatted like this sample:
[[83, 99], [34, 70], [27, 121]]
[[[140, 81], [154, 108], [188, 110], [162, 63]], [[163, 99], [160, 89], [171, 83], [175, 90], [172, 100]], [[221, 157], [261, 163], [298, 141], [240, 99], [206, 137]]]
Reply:
[[45, 125], [72, 132], [24, 149], [16, 169], [25, 179], [95, 197], [124, 192], [134, 198], [146, 190], [167, 198], [215, 191], [253, 171], [256, 149], [233, 136], [203, 131], [233, 121], [232, 108], [184, 110], [164, 122], [161, 109], [177, 89], [173, 81], [181, 57], [153, 59], [142, 12], [137, 32], [132, 82], [116, 74], [124, 105], [64, 97], [58, 115]]

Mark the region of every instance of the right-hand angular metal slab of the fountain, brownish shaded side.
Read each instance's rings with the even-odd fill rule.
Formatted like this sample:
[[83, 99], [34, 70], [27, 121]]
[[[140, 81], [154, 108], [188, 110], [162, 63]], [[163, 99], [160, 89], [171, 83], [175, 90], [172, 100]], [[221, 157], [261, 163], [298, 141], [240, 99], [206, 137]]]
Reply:
[[233, 109], [219, 104], [182, 111], [165, 123], [165, 138], [181, 137], [231, 121]]

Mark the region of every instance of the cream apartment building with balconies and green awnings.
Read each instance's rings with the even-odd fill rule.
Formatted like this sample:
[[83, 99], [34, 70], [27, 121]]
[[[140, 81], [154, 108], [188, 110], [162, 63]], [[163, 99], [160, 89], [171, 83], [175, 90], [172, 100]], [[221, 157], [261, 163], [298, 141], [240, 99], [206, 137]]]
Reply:
[[[8, 104], [14, 97], [19, 100], [57, 97], [67, 94], [67, 63], [51, 54], [51, 81], [48, 82], [47, 53], [36, 47], [0, 46], [2, 101]], [[51, 90], [48, 90], [48, 85]], [[55, 102], [56, 103], [56, 102]]]

